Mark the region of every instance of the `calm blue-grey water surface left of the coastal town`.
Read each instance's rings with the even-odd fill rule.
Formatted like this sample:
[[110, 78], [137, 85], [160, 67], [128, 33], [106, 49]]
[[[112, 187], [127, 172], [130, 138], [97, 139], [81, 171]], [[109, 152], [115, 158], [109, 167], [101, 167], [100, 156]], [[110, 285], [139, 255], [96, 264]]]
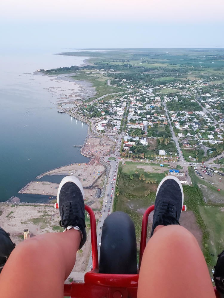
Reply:
[[82, 57], [52, 55], [63, 51], [0, 52], [0, 201], [20, 197], [18, 191], [45, 171], [89, 160], [73, 148], [83, 144], [88, 126], [55, 108], [63, 92], [78, 86], [33, 74], [40, 68], [83, 64]]

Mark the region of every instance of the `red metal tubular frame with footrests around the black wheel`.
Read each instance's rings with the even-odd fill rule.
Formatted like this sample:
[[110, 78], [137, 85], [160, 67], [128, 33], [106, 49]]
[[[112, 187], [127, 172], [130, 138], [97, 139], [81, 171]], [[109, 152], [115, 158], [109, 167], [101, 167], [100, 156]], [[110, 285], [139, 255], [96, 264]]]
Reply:
[[[91, 243], [93, 268], [84, 276], [84, 283], [71, 283], [64, 286], [64, 296], [72, 298], [136, 298], [139, 274], [103, 274], [99, 273], [96, 218], [93, 210], [85, 205], [85, 210], [90, 215]], [[139, 253], [139, 268], [142, 262], [142, 255], [146, 246], [148, 216], [154, 210], [150, 206], [144, 213], [142, 219], [142, 233]], [[186, 210], [183, 206], [182, 210]], [[216, 288], [215, 295], [220, 298]]]

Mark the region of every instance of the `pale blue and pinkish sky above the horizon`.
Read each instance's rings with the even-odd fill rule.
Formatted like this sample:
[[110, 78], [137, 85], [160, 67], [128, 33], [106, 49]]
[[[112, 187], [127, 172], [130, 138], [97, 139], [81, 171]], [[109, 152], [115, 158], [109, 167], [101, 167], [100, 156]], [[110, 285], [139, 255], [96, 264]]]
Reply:
[[224, 47], [223, 11], [223, 0], [2, 0], [1, 47]]

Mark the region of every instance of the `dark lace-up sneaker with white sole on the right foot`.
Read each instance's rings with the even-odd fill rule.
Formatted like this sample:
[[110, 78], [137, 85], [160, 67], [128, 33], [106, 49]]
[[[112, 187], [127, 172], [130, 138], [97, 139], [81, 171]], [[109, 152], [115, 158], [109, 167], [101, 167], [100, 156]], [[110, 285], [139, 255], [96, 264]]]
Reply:
[[174, 176], [163, 178], [156, 192], [151, 237], [159, 225], [179, 224], [183, 201], [183, 187], [179, 179]]

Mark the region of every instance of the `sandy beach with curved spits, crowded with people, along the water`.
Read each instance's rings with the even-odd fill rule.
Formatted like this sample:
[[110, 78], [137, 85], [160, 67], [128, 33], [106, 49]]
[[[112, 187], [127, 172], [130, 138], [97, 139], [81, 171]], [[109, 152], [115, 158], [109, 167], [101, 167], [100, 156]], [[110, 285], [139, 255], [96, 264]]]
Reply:
[[[108, 152], [113, 146], [113, 141], [108, 137], [97, 136], [90, 131], [91, 121], [88, 119], [83, 119], [81, 116], [74, 115], [69, 111], [65, 111], [66, 114], [72, 116], [82, 122], [88, 124], [88, 131], [85, 141], [83, 142], [82, 149], [80, 153], [89, 158], [88, 163], [71, 163], [61, 167], [56, 167], [40, 175], [36, 176], [36, 179], [43, 178], [45, 176], [54, 175], [66, 175], [66, 176], [76, 176], [81, 182], [85, 189], [96, 189], [99, 188], [101, 191], [100, 197], [105, 193], [105, 178], [108, 176], [110, 169], [110, 164], [105, 163], [102, 160], [103, 156], [108, 155]], [[95, 150], [93, 150], [93, 148]], [[97, 170], [96, 170], [97, 168]], [[93, 174], [95, 176], [93, 176]], [[104, 177], [104, 174], [106, 177]], [[85, 176], [86, 175], [86, 176]], [[91, 176], [92, 175], [92, 176]], [[38, 189], [36, 188], [38, 184]], [[46, 194], [46, 195], [57, 195], [55, 189], [58, 184], [46, 181], [30, 181], [26, 184], [18, 193], [28, 193], [28, 194]], [[90, 193], [90, 192], [89, 192]], [[88, 198], [88, 194], [87, 199]]]

